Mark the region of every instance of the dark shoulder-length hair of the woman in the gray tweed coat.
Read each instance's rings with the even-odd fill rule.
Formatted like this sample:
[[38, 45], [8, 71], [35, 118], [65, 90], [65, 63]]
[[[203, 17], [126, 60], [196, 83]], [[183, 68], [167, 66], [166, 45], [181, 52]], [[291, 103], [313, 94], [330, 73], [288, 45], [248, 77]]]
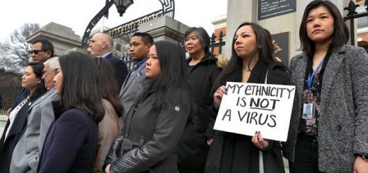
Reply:
[[299, 39], [300, 39], [300, 49], [303, 52], [306, 52], [309, 57], [313, 57], [314, 54], [314, 41], [310, 40], [306, 31], [306, 20], [308, 18], [309, 11], [314, 8], [318, 8], [320, 6], [324, 6], [328, 9], [333, 16], [333, 35], [332, 42], [330, 43], [329, 49], [335, 49], [336, 47], [340, 47], [346, 44], [347, 40], [349, 40], [349, 31], [347, 30], [347, 26], [344, 23], [343, 16], [341, 16], [338, 7], [335, 6], [330, 1], [322, 1], [315, 0], [311, 1], [306, 6], [304, 10], [303, 18], [301, 18], [300, 28], [299, 28]]

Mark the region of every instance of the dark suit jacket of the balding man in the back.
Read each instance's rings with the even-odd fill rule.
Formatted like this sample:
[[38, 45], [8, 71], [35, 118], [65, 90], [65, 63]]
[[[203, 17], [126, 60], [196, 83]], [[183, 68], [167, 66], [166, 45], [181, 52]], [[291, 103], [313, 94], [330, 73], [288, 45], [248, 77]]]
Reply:
[[124, 83], [124, 80], [128, 74], [127, 65], [122, 60], [120, 60], [120, 58], [113, 56], [113, 54], [108, 54], [105, 59], [108, 59], [110, 64], [114, 67], [115, 78], [117, 80], [118, 87], [117, 89], [120, 90], [120, 88], [122, 88], [122, 83]]

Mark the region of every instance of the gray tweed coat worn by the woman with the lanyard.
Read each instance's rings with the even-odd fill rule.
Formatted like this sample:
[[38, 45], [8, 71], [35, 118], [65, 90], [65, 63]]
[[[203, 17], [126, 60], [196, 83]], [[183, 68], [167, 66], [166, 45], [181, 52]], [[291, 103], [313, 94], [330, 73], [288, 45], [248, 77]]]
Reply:
[[[284, 157], [294, 162], [306, 53], [292, 58], [296, 85]], [[323, 74], [321, 115], [318, 120], [318, 168], [322, 172], [352, 172], [355, 153], [368, 155], [368, 55], [364, 49], [341, 46], [330, 55]]]

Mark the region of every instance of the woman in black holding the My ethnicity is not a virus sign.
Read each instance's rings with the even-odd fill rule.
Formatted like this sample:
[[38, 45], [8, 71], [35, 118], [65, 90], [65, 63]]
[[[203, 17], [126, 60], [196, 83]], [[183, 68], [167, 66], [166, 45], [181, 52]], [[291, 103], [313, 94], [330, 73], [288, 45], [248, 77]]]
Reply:
[[[226, 82], [289, 85], [289, 71], [272, 59], [272, 42], [265, 29], [255, 23], [241, 24], [233, 39], [229, 65], [219, 76], [214, 93], [214, 119], [226, 94]], [[205, 172], [284, 172], [281, 146], [255, 135], [216, 131], [209, 149]]]

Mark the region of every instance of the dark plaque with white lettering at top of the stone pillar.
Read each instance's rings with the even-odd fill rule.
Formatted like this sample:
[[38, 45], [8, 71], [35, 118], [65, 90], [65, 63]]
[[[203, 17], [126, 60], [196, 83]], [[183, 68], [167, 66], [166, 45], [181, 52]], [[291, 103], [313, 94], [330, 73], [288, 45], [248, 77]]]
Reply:
[[297, 0], [258, 0], [258, 20], [281, 16], [297, 10]]

